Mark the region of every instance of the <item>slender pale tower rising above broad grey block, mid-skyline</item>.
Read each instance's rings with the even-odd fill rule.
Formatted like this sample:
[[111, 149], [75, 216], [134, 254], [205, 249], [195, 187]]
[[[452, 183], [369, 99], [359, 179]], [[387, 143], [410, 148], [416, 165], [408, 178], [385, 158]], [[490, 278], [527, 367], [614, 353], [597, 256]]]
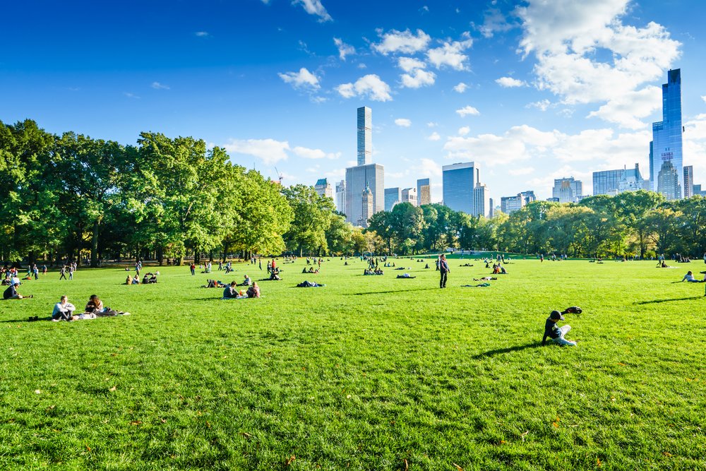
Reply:
[[346, 169], [346, 220], [359, 224], [362, 220], [363, 190], [366, 186], [373, 193], [373, 212], [368, 217], [385, 208], [385, 169], [372, 162], [372, 111], [369, 107], [357, 109], [358, 118], [358, 165]]

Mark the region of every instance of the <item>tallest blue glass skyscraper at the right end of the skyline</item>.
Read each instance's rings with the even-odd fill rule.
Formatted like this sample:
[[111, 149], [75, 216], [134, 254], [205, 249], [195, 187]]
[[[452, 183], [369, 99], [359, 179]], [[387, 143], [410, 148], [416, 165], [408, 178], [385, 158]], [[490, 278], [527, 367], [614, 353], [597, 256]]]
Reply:
[[[662, 84], [662, 121], [652, 123], [650, 146], [651, 189], [667, 195], [668, 198], [681, 198], [684, 185], [682, 133], [681, 69], [676, 68], [667, 73], [667, 83]], [[662, 178], [659, 177], [660, 172]], [[671, 177], [674, 172], [676, 179]]]

